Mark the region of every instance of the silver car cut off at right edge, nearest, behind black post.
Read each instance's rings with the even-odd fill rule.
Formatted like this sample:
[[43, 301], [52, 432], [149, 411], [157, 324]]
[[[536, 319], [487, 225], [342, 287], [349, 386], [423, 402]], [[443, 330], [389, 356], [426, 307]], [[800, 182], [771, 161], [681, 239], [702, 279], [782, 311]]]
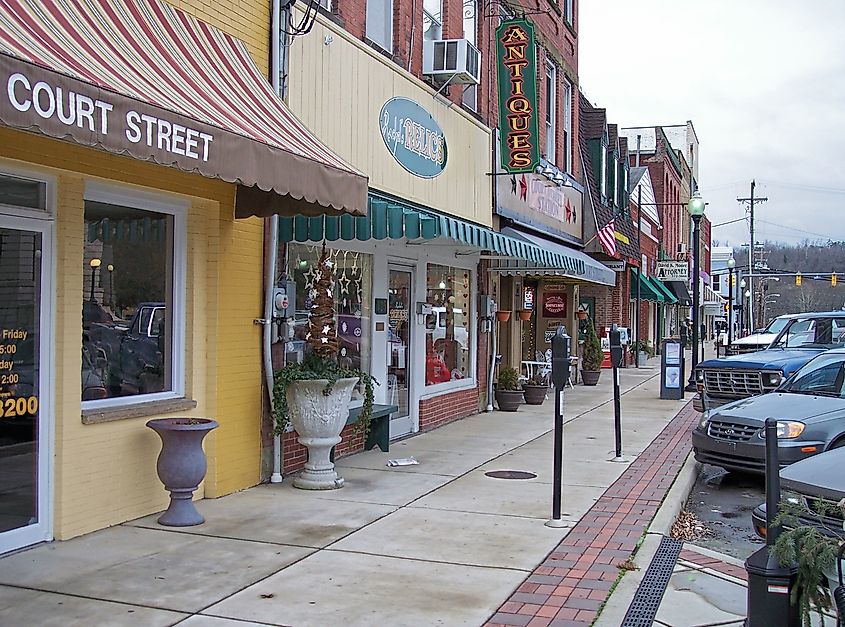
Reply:
[[[798, 522], [815, 527], [822, 534], [845, 541], [845, 448], [838, 448], [815, 455], [810, 459], [780, 471], [781, 500], [789, 501], [801, 509]], [[751, 512], [754, 531], [766, 537], [766, 504]], [[845, 570], [845, 563], [843, 563]], [[836, 566], [825, 573], [831, 592], [838, 585]]]

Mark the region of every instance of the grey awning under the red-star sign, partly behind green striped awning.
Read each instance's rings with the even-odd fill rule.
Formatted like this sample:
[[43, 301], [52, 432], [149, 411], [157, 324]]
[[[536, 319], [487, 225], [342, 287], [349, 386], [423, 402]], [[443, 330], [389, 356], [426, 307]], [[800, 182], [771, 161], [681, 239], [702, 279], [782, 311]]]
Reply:
[[[595, 283], [597, 285], [616, 285], [616, 272], [608, 268], [600, 261], [593, 259], [588, 254], [581, 252], [575, 248], [570, 248], [564, 244], [518, 231], [510, 227], [502, 229], [502, 233], [506, 233], [514, 238], [528, 242], [536, 246], [542, 251], [546, 251], [550, 255], [556, 255], [560, 259], [565, 260], [567, 267], [543, 265], [542, 262], [515, 262], [507, 266], [500, 266], [498, 268], [491, 268], [503, 274], [514, 274], [521, 276], [561, 276], [565, 278], [574, 279], [576, 282]], [[575, 267], [575, 270], [569, 269]]]

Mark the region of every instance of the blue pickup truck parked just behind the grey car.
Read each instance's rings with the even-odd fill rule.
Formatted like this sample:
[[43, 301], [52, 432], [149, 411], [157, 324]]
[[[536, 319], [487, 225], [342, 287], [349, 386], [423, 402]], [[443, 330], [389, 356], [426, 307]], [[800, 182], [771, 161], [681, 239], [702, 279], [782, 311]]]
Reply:
[[699, 363], [693, 406], [705, 411], [772, 392], [819, 353], [843, 346], [845, 311], [792, 316], [766, 350]]

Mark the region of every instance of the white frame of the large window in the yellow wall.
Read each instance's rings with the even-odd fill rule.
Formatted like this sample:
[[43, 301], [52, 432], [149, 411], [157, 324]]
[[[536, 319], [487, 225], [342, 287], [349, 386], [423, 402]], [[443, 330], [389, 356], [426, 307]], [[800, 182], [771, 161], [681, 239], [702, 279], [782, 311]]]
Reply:
[[[113, 407], [126, 407], [131, 405], [142, 405], [152, 401], [170, 400], [185, 397], [185, 351], [187, 346], [186, 337], [186, 276], [188, 258], [188, 232], [187, 213], [190, 203], [185, 198], [169, 196], [149, 190], [141, 190], [133, 187], [105, 183], [100, 181], [87, 181], [85, 185], [84, 200], [102, 202], [110, 205], [130, 207], [145, 211], [155, 211], [173, 216], [173, 291], [170, 294], [169, 304], [172, 303], [173, 312], [171, 315], [171, 350], [170, 389], [152, 394], [138, 394], [135, 396], [121, 396], [116, 398], [105, 398], [94, 401], [82, 401], [82, 409], [105, 409]], [[80, 333], [82, 332], [80, 318]]]

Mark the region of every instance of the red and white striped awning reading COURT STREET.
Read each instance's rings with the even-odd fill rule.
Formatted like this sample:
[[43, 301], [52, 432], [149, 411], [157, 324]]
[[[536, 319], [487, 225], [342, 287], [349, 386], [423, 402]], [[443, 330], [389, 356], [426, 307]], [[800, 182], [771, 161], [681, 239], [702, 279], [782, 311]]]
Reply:
[[159, 0], [0, 0], [0, 81], [0, 123], [237, 183], [238, 217], [366, 215], [243, 42]]

